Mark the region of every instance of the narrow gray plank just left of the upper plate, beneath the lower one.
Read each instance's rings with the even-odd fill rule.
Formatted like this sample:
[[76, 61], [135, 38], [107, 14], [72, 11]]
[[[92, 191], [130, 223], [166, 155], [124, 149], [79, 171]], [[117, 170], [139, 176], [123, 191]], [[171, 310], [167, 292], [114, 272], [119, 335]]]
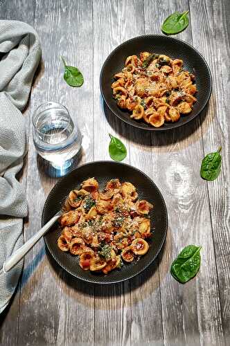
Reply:
[[[100, 69], [107, 55], [120, 44], [120, 30], [127, 23], [126, 1], [93, 1], [94, 21], [94, 159], [109, 159], [109, 133], [118, 130], [116, 119], [109, 122], [104, 115], [100, 95]], [[129, 149], [125, 139], [126, 127], [119, 127], [119, 138]], [[125, 159], [129, 162], [129, 156]], [[116, 327], [115, 327], [116, 326]], [[130, 288], [129, 284], [95, 287], [95, 345], [130, 344]]]

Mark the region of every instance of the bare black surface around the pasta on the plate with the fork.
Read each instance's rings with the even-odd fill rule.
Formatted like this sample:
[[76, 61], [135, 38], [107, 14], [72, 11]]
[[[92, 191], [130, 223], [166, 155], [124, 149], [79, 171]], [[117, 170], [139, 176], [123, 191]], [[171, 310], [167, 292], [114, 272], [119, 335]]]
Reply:
[[60, 230], [57, 229], [57, 224], [46, 233], [44, 240], [48, 251], [57, 263], [75, 277], [97, 284], [121, 282], [141, 273], [141, 271], [149, 266], [159, 254], [166, 238], [168, 228], [166, 204], [157, 186], [140, 170], [137, 170], [130, 165], [125, 165], [124, 163], [97, 161], [82, 165], [57, 181], [46, 199], [42, 212], [42, 226], [44, 226], [44, 224], [46, 224], [46, 222], [51, 219], [58, 210], [60, 210], [69, 192], [73, 189], [79, 188], [80, 183], [82, 183], [83, 180], [92, 176], [98, 180], [100, 189], [104, 188], [105, 183], [112, 178], [118, 178], [121, 182], [130, 181], [136, 186], [140, 199], [147, 199], [154, 204], [154, 209], [150, 213], [153, 237], [149, 242], [150, 249], [148, 253], [141, 257], [137, 262], [125, 264], [121, 270], [115, 269], [108, 275], [95, 274], [90, 271], [82, 271], [82, 268], [80, 268], [78, 264], [78, 256], [73, 256], [71, 253], [60, 251], [57, 247], [57, 238], [60, 235]]

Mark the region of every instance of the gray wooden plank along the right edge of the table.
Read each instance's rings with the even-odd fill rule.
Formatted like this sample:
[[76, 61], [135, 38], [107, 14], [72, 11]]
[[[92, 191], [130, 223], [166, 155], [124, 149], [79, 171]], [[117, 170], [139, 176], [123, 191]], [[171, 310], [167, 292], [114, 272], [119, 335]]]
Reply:
[[[230, 342], [230, 145], [229, 145], [229, 1], [191, 1], [194, 46], [206, 57], [213, 75], [213, 95], [209, 113], [202, 123], [204, 154], [222, 145], [222, 170], [209, 190], [216, 271], [218, 274], [222, 327]], [[214, 273], [213, 273], [214, 275]], [[213, 336], [214, 338], [214, 336]]]

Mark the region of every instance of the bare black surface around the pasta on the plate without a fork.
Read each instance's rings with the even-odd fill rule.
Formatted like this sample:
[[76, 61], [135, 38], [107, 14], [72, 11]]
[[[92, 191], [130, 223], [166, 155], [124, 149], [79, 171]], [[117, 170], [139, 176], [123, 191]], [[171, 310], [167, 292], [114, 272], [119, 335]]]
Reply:
[[[178, 58], [184, 61], [186, 70], [195, 74], [195, 82], [197, 90], [193, 111], [188, 116], [181, 116], [178, 122], [166, 123], [163, 127], [152, 127], [146, 122], [137, 121], [130, 118], [130, 113], [124, 109], [120, 109], [112, 95], [111, 84], [114, 82], [114, 74], [120, 72], [125, 66], [125, 59], [129, 55], [139, 55], [143, 51], [149, 51], [157, 54], [165, 54], [173, 59]], [[100, 91], [103, 98], [111, 111], [127, 124], [139, 129], [147, 129], [150, 131], [164, 131], [182, 126], [193, 120], [206, 106], [209, 101], [212, 89], [211, 71], [204, 57], [190, 44], [168, 37], [164, 35], [144, 35], [134, 37], [118, 46], [107, 57], [103, 68], [100, 72]]]

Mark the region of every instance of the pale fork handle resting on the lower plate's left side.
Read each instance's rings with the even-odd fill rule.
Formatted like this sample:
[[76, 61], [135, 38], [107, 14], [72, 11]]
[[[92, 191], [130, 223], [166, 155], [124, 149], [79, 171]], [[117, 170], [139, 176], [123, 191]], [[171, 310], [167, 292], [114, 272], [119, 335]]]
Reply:
[[10, 271], [10, 269], [15, 266], [25, 255], [30, 251], [30, 248], [33, 248], [33, 246], [37, 243], [37, 241], [42, 238], [42, 236], [47, 232], [49, 228], [59, 219], [59, 217], [62, 215], [62, 212], [59, 211], [57, 214], [50, 219], [47, 224], [45, 224], [33, 237], [28, 239], [24, 245], [22, 245], [20, 248], [18, 248], [8, 259], [3, 263], [3, 272], [7, 273]]

